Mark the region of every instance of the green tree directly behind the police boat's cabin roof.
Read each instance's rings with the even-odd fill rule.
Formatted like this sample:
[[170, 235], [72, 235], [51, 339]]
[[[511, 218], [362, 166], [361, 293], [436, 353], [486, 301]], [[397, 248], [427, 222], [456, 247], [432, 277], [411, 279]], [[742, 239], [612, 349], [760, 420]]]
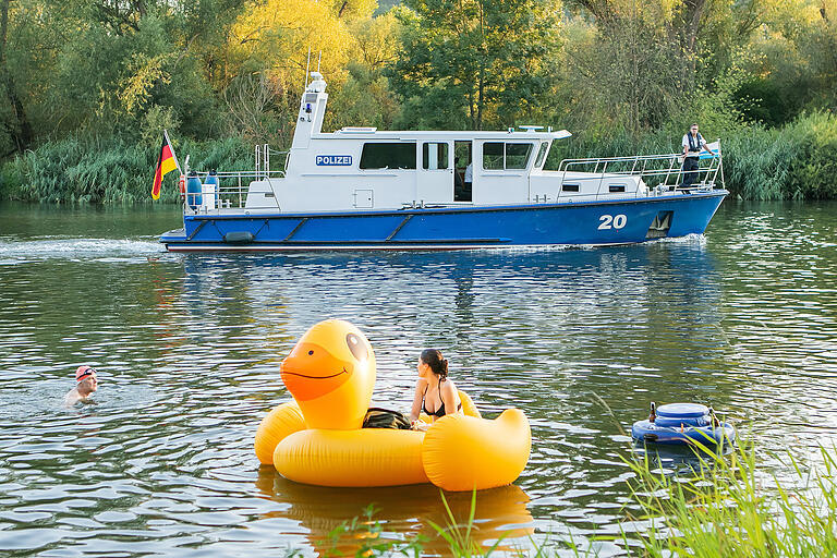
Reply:
[[[549, 92], [558, 0], [408, 0], [389, 72], [408, 125], [474, 130], [530, 118]], [[440, 122], [441, 121], [441, 122]]]

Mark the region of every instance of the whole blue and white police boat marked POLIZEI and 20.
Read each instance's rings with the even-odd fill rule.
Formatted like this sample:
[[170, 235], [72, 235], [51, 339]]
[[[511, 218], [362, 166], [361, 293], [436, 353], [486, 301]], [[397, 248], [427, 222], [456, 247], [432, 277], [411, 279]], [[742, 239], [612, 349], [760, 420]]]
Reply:
[[[322, 132], [316, 72], [291, 148], [255, 149], [252, 171], [191, 174], [170, 251], [453, 250], [624, 244], [703, 233], [728, 194], [720, 154], [683, 173], [678, 154], [567, 159], [566, 130]], [[284, 157], [281, 170], [271, 158]], [[688, 182], [688, 184], [683, 184]]]

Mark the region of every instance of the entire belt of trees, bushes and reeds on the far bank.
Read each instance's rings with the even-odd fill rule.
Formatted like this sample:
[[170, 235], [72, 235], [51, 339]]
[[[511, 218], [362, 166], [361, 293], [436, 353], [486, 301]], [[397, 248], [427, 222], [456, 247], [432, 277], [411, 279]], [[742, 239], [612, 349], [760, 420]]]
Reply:
[[163, 129], [196, 170], [252, 169], [310, 64], [326, 131], [553, 125], [555, 168], [698, 122], [733, 196], [837, 198], [829, 52], [837, 0], [0, 0], [0, 199], [150, 202]]

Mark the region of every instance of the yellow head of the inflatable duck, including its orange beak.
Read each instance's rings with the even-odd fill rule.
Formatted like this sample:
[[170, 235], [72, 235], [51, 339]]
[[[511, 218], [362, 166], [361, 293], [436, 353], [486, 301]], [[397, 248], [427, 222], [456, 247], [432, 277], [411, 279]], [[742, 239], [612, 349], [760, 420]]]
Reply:
[[350, 430], [363, 425], [375, 387], [375, 352], [349, 322], [327, 319], [313, 326], [282, 361], [280, 372], [308, 428]]

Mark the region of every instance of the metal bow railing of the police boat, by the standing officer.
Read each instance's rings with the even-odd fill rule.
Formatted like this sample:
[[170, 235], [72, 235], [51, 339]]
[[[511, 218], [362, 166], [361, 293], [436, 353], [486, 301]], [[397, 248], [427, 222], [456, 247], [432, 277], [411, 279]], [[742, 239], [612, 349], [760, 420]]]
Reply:
[[[708, 165], [703, 165], [708, 161]], [[723, 160], [720, 154], [703, 153], [699, 159], [699, 168], [694, 170], [683, 170], [683, 155], [679, 153], [662, 155], [634, 155], [627, 157], [592, 157], [585, 159], [563, 159], [558, 166], [558, 172], [561, 173], [561, 181], [558, 185], [558, 196], [561, 196], [565, 182], [568, 180], [568, 173], [583, 173], [589, 177], [579, 177], [571, 174], [569, 180], [573, 183], [594, 182], [596, 183], [596, 198], [609, 192], [609, 185], [612, 184], [612, 178], [635, 177], [641, 179], [650, 190], [655, 192], [679, 191], [701, 191], [715, 187], [718, 172], [721, 174], [723, 182]], [[682, 186], [686, 174], [691, 179], [688, 186]], [[636, 197], [644, 196], [639, 189], [635, 190]]]

